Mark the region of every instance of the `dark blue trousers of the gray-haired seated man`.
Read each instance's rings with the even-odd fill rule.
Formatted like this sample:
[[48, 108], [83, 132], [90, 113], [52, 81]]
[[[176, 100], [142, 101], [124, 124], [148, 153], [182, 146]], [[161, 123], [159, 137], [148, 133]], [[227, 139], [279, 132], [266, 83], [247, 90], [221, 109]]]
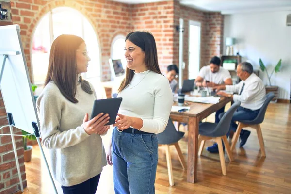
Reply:
[[[226, 134], [226, 136], [227, 137], [229, 136], [230, 130], [236, 131], [236, 129], [238, 128], [238, 125], [235, 123], [235, 121], [239, 121], [240, 122], [240, 121], [243, 121], [243, 120], [248, 120], [248, 121], [254, 120], [257, 117], [258, 113], [259, 113], [259, 109], [255, 110], [255, 111], [252, 111], [250, 109], [246, 109], [246, 108], [243, 108], [243, 107], [240, 106], [233, 113], [233, 116], [232, 116], [232, 119], [231, 119], [231, 123], [230, 123], [230, 128], [229, 128], [229, 131]], [[242, 131], [241, 131], [241, 133], [242, 133]]]

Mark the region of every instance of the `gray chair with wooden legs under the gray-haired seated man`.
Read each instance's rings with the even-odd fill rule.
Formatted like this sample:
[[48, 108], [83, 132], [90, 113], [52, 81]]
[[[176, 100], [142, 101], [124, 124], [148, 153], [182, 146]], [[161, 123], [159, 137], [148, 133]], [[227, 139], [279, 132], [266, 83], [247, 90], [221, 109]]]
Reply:
[[238, 138], [240, 136], [242, 128], [251, 127], [253, 129], [257, 130], [260, 150], [261, 150], [262, 156], [266, 157], [264, 139], [263, 139], [262, 129], [260, 128], [260, 124], [264, 121], [265, 113], [266, 113], [268, 104], [270, 103], [270, 101], [274, 97], [275, 97], [275, 94], [273, 92], [270, 92], [266, 95], [266, 100], [265, 100], [263, 106], [260, 108], [258, 116], [254, 120], [252, 120], [252, 121], [239, 121], [238, 128], [237, 128], [237, 130], [232, 138], [232, 143], [231, 143], [231, 147], [230, 147], [231, 151], [233, 151], [235, 148], [235, 145], [238, 141]]

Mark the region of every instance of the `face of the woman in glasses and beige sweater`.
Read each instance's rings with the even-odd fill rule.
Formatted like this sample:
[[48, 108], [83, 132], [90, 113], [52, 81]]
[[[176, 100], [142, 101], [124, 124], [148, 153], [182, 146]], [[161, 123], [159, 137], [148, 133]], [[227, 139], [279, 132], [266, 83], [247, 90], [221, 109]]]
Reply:
[[91, 61], [91, 59], [88, 57], [87, 47], [83, 42], [76, 50], [77, 73], [87, 72], [89, 61]]

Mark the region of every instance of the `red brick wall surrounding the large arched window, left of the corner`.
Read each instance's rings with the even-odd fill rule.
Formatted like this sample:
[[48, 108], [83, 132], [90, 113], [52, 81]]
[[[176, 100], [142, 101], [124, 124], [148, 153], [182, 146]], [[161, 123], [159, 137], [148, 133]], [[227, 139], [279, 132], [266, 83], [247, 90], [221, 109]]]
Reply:
[[102, 80], [110, 79], [110, 47], [116, 32], [126, 34], [130, 25], [130, 5], [110, 0], [11, 0], [13, 23], [21, 28], [21, 39], [32, 79], [30, 48], [33, 32], [42, 16], [56, 7], [71, 7], [80, 11], [92, 24], [101, 49]]

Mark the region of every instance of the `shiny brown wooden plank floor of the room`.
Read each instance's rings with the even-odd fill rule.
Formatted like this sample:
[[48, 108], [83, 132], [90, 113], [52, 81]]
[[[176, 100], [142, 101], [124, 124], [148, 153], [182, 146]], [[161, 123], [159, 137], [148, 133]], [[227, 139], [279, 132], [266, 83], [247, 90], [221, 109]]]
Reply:
[[[213, 121], [214, 115], [208, 117]], [[270, 104], [265, 120], [261, 124], [266, 155], [261, 157], [256, 131], [243, 148], [236, 147], [235, 161], [229, 163], [226, 157], [227, 175], [223, 176], [218, 154], [203, 151], [198, 158], [198, 182], [186, 182], [186, 171], [178, 161], [174, 147], [172, 165], [175, 186], [169, 186], [165, 152], [159, 148], [159, 163], [156, 177], [157, 194], [291, 194], [291, 105]], [[110, 135], [105, 137], [105, 141]], [[187, 136], [187, 131], [185, 133]], [[187, 138], [179, 145], [187, 159]], [[211, 141], [206, 146], [212, 145]], [[48, 155], [47, 155], [48, 156]], [[187, 161], [187, 160], [186, 160]], [[25, 163], [28, 188], [25, 194], [53, 194], [43, 159], [40, 159], [38, 146], [34, 146], [31, 162]], [[58, 191], [61, 194], [58, 183]], [[98, 194], [114, 194], [112, 167], [103, 169]]]

